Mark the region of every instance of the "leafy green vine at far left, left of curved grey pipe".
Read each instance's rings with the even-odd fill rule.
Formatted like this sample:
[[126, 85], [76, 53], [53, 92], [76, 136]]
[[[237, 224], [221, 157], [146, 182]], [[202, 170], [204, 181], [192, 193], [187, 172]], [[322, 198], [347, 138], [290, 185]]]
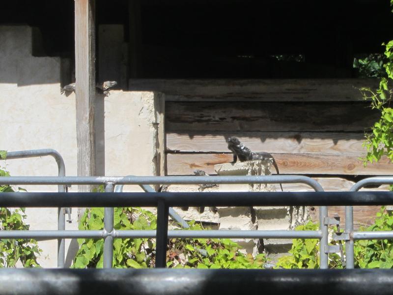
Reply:
[[[7, 152], [0, 151], [0, 159], [6, 159]], [[0, 168], [0, 177], [10, 176], [5, 168]], [[17, 191], [26, 191], [20, 187]], [[15, 192], [10, 185], [0, 185], [0, 193]], [[0, 207], [0, 230], [28, 230], [25, 223], [27, 215], [25, 208]], [[37, 257], [42, 250], [35, 240], [30, 239], [0, 239], [0, 267], [16, 267], [20, 263], [23, 267], [37, 267]]]

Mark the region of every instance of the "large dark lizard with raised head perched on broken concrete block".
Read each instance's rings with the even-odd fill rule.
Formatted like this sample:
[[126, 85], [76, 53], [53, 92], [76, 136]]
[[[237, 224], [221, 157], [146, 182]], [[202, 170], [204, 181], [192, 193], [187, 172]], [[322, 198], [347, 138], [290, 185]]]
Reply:
[[[269, 160], [272, 162], [274, 168], [276, 168], [277, 174], [280, 174], [279, 167], [277, 166], [276, 160], [273, 156], [266, 152], [253, 152], [250, 148], [247, 148], [238, 138], [236, 137], [229, 137], [226, 142], [228, 143], [228, 148], [233, 152], [233, 162], [236, 163], [237, 159], [239, 158], [240, 162], [244, 161], [255, 161], [255, 160]], [[280, 183], [281, 191], [282, 185]]]

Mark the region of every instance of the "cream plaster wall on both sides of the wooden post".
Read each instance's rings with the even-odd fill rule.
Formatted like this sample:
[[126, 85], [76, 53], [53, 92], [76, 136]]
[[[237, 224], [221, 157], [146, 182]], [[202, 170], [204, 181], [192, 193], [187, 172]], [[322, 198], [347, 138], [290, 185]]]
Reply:
[[[76, 176], [75, 94], [60, 94], [63, 70], [60, 58], [32, 56], [32, 33], [33, 29], [28, 26], [0, 26], [0, 149], [54, 148], [64, 158], [66, 175]], [[105, 97], [106, 175], [156, 174], [155, 106], [160, 98], [159, 94], [149, 92], [123, 91], [111, 91], [111, 95]], [[0, 161], [0, 167], [5, 166], [13, 176], [57, 175], [52, 157]], [[57, 189], [56, 186], [24, 187], [28, 191]], [[71, 188], [76, 189], [76, 186]], [[125, 187], [126, 190], [140, 188], [130, 186]], [[27, 208], [27, 215], [31, 230], [57, 228], [56, 208]], [[72, 219], [71, 224], [66, 223], [66, 229], [78, 228], [76, 208]], [[69, 243], [67, 240], [67, 248]], [[75, 245], [75, 240], [73, 243]], [[57, 241], [43, 241], [39, 245], [43, 249], [40, 264], [56, 267]]]

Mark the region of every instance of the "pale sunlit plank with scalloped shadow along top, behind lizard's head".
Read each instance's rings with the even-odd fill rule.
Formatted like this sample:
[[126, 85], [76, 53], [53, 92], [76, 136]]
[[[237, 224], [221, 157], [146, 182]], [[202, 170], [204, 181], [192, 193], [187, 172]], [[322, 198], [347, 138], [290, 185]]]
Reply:
[[167, 151], [227, 152], [225, 139], [236, 136], [254, 151], [270, 153], [361, 154], [364, 133], [242, 132], [222, 134], [167, 133]]

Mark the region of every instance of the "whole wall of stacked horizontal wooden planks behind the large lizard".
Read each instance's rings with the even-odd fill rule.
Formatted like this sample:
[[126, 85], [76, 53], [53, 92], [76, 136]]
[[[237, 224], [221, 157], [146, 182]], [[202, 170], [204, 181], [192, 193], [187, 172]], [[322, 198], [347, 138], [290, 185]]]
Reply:
[[[166, 80], [154, 90], [166, 93], [168, 175], [215, 174], [214, 165], [232, 161], [225, 139], [236, 136], [253, 151], [275, 157], [281, 174], [318, 176], [328, 191], [349, 190], [348, 179], [392, 175], [387, 158], [363, 165], [364, 132], [378, 112], [361, 100], [357, 88], [373, 80]], [[131, 83], [139, 90], [146, 81]], [[284, 191], [310, 190], [283, 184]], [[386, 190], [387, 187], [382, 189]], [[380, 207], [355, 207], [355, 226], [369, 224]], [[315, 219], [317, 208], [311, 211]], [[342, 218], [343, 207], [330, 207]]]

